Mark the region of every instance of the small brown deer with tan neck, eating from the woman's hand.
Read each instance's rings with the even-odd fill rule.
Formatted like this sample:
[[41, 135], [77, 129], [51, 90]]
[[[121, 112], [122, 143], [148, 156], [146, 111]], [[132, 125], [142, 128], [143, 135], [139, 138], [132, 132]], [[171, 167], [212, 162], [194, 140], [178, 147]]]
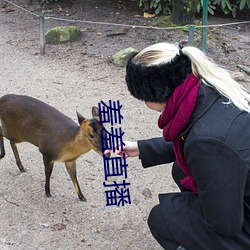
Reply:
[[[29, 96], [9, 94], [0, 98], [0, 158], [5, 156], [3, 137], [9, 139], [16, 164], [20, 161], [17, 143], [29, 142], [39, 148], [45, 167], [45, 193], [50, 194], [50, 176], [54, 162], [64, 162], [81, 201], [83, 196], [76, 176], [76, 159], [94, 149], [102, 153], [99, 110], [92, 107], [93, 118], [77, 112], [80, 126], [60, 111]], [[109, 157], [109, 155], [107, 156]]]

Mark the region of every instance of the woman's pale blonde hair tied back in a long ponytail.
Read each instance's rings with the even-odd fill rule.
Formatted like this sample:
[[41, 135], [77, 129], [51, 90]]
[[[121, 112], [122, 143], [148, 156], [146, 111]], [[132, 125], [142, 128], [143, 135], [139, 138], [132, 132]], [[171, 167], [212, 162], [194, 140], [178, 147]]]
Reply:
[[250, 113], [250, 94], [231, 77], [227, 70], [215, 64], [195, 47], [187, 46], [180, 51], [176, 44], [157, 43], [138, 53], [134, 62], [145, 66], [160, 65], [170, 62], [181, 52], [190, 59], [193, 74], [228, 99], [225, 104], [233, 103], [238, 109]]

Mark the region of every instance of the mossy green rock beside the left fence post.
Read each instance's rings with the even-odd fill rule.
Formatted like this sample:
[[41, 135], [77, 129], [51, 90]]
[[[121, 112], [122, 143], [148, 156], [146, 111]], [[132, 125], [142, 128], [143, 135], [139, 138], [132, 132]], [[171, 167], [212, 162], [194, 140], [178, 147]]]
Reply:
[[73, 42], [82, 36], [82, 31], [76, 26], [55, 27], [45, 34], [45, 42], [50, 44]]

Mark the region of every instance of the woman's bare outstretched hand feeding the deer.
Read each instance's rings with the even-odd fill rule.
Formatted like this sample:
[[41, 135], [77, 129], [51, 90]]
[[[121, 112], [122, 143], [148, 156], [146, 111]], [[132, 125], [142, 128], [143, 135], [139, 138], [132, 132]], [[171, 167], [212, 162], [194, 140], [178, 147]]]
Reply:
[[[125, 146], [123, 146], [123, 150], [121, 150], [121, 145], [119, 145], [119, 149], [115, 147], [115, 156], [123, 157], [123, 154], [125, 154], [125, 158], [127, 157], [136, 157], [139, 156], [139, 148], [137, 142], [129, 142], [124, 141]], [[105, 150], [104, 154], [111, 153], [113, 149]]]

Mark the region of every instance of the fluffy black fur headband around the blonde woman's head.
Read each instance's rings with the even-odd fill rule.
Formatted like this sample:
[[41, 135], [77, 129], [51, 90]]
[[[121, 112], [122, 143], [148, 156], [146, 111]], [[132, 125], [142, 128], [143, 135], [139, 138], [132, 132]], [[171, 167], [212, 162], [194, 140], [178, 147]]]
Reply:
[[182, 52], [171, 62], [154, 66], [135, 64], [134, 56], [126, 66], [126, 82], [131, 95], [142, 101], [165, 103], [192, 71], [190, 59]]

